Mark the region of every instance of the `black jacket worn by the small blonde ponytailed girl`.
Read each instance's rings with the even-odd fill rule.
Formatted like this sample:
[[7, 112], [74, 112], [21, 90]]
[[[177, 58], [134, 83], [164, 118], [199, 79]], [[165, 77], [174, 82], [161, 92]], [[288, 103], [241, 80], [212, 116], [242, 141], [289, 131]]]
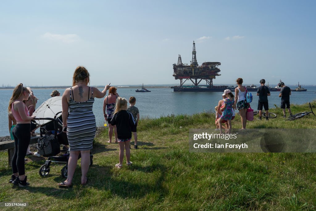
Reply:
[[132, 138], [132, 131], [135, 128], [135, 120], [133, 115], [126, 110], [114, 114], [111, 120], [111, 125], [116, 125], [118, 131], [118, 139]]

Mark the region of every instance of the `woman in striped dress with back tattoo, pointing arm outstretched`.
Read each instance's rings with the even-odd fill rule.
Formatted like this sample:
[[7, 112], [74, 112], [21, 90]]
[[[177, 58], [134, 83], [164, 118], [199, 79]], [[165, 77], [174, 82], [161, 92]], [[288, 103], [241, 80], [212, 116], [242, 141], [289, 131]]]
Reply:
[[[70, 146], [68, 160], [68, 177], [59, 186], [70, 187], [72, 177], [77, 166], [78, 156], [81, 153], [81, 184], [86, 184], [87, 172], [90, 164], [90, 150], [95, 136], [95, 117], [92, 112], [94, 97], [103, 98], [110, 86], [106, 85], [103, 91], [89, 87], [90, 74], [85, 67], [78, 66], [72, 78], [72, 87], [64, 91], [63, 131], [67, 131]], [[68, 114], [69, 111], [69, 114]]]

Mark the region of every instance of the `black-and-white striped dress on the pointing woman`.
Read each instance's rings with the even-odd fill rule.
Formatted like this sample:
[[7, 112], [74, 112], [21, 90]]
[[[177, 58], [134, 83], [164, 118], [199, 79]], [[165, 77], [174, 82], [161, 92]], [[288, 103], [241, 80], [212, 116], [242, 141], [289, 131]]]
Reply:
[[[70, 88], [69, 115], [67, 118], [67, 138], [70, 151], [83, 151], [92, 149], [95, 136], [96, 124], [92, 111], [94, 102], [93, 88], [91, 87], [91, 98], [85, 102], [76, 102], [71, 97]], [[72, 93], [73, 94], [73, 93]], [[90, 88], [89, 94], [90, 95]]]

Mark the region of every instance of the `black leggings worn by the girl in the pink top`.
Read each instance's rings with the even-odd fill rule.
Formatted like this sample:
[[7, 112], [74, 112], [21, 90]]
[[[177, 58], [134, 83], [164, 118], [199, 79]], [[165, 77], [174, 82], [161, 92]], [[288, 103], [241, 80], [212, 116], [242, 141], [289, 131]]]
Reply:
[[25, 174], [24, 158], [26, 156], [27, 147], [31, 140], [31, 124], [16, 124], [13, 128], [12, 134], [14, 137], [14, 154], [12, 158], [12, 171]]

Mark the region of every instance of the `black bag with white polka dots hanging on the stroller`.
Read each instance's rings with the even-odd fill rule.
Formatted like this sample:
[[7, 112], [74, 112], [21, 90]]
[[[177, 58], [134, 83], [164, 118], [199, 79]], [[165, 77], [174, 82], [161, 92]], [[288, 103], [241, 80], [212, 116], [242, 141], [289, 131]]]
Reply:
[[37, 143], [37, 149], [40, 155], [54, 156], [60, 152], [60, 145], [56, 134], [40, 137]]

